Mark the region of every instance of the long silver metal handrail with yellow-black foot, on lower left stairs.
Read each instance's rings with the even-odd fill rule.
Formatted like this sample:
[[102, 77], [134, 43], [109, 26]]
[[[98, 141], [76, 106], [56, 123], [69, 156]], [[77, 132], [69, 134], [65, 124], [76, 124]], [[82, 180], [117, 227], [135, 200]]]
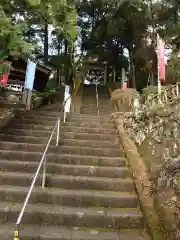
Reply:
[[[63, 109], [65, 108], [65, 104], [66, 102], [68, 101], [68, 99], [71, 98], [71, 94], [70, 96], [63, 102], [63, 105], [62, 105], [62, 108], [60, 110], [60, 113], [63, 111]], [[65, 113], [64, 113], [65, 114]], [[21, 221], [22, 221], [22, 218], [24, 216], [24, 211], [26, 209], [26, 206], [29, 202], [29, 198], [31, 196], [31, 193], [32, 193], [32, 190], [34, 188], [34, 185], [36, 183], [36, 180], [37, 180], [37, 177], [39, 175], [39, 172], [42, 168], [42, 165], [44, 164], [43, 166], [43, 177], [42, 177], [42, 189], [45, 188], [45, 183], [46, 183], [46, 166], [47, 166], [47, 151], [49, 149], [49, 145], [52, 141], [52, 138], [53, 138], [53, 135], [56, 131], [56, 147], [59, 145], [59, 134], [60, 134], [60, 123], [61, 123], [61, 119], [60, 117], [58, 117], [57, 121], [56, 121], [56, 124], [51, 132], [51, 135], [49, 137], [49, 140], [48, 140], [48, 143], [46, 145], [46, 148], [43, 152], [43, 155], [41, 157], [41, 160], [40, 160], [40, 163], [39, 163], [39, 166], [36, 170], [36, 173], [34, 175], [34, 178], [32, 180], [32, 183], [30, 185], [30, 188], [29, 188], [29, 191], [28, 191], [28, 194], [26, 195], [26, 198], [25, 198], [25, 201], [24, 201], [24, 204], [22, 206], [22, 209], [18, 215], [18, 218], [17, 218], [17, 221], [16, 221], [16, 230], [14, 231], [14, 240], [19, 240], [19, 231], [20, 231], [20, 225], [21, 225]]]

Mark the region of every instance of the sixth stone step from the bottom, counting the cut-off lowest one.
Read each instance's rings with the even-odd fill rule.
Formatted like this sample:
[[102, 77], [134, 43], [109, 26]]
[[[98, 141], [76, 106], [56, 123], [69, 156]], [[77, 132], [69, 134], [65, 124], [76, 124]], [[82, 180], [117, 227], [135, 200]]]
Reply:
[[[51, 163], [73, 164], [73, 165], [90, 165], [90, 166], [112, 166], [125, 167], [126, 159], [124, 157], [97, 157], [97, 156], [81, 156], [70, 154], [48, 153], [48, 161]], [[15, 150], [1, 150], [0, 159], [12, 161], [40, 161], [42, 153], [26, 152]]]

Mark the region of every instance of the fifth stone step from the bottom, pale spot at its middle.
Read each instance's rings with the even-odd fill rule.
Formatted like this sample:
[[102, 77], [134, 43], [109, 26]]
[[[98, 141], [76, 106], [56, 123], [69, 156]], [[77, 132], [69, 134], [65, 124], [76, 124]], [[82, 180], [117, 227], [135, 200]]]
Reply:
[[[7, 161], [0, 160], [1, 171], [10, 172], [27, 172], [34, 173], [39, 162], [28, 161]], [[72, 176], [89, 176], [89, 177], [110, 177], [110, 178], [127, 178], [131, 177], [127, 167], [102, 167], [89, 165], [72, 165], [47, 163], [48, 174], [63, 174]]]

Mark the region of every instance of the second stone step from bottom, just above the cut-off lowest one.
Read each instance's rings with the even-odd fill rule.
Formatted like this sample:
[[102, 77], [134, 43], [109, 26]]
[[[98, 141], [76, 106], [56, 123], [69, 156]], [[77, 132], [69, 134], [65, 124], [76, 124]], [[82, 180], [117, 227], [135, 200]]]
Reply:
[[[1, 202], [0, 223], [14, 223], [22, 204]], [[78, 208], [50, 204], [28, 204], [23, 216], [24, 224], [137, 229], [143, 227], [141, 213], [136, 209]]]

